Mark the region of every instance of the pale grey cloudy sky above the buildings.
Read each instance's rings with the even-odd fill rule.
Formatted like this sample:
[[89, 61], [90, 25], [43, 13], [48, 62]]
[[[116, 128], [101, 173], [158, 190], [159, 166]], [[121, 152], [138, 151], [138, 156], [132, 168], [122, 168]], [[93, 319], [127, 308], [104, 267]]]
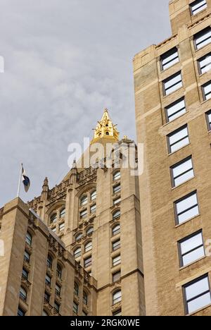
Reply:
[[103, 108], [135, 139], [132, 59], [171, 35], [168, 0], [0, 0], [0, 205], [25, 202], [68, 172], [68, 145], [92, 136]]

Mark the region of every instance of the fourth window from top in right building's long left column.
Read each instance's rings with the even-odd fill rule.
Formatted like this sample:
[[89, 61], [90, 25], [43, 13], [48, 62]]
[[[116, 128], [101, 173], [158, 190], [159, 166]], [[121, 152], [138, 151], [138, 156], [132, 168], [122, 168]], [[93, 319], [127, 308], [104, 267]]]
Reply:
[[188, 126], [185, 125], [178, 130], [174, 130], [171, 134], [167, 135], [169, 152], [176, 152], [185, 145], [190, 143], [188, 137]]

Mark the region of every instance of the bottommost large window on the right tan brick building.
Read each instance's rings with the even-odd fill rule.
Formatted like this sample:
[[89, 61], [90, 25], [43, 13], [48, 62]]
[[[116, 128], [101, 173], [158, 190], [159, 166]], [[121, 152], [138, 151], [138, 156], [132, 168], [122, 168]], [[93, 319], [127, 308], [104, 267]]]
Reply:
[[208, 274], [187, 283], [183, 289], [186, 314], [196, 312], [200, 308], [210, 305], [211, 295]]

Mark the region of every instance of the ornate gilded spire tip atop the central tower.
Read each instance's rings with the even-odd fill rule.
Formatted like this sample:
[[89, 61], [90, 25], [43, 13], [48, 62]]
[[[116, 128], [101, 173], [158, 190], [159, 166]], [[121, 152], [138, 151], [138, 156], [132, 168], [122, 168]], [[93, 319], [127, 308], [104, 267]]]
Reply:
[[118, 142], [120, 133], [117, 131], [116, 126], [117, 125], [114, 125], [110, 119], [108, 109], [105, 109], [101, 121], [98, 121], [94, 129], [94, 138], [91, 140], [91, 144], [99, 142], [102, 138]]

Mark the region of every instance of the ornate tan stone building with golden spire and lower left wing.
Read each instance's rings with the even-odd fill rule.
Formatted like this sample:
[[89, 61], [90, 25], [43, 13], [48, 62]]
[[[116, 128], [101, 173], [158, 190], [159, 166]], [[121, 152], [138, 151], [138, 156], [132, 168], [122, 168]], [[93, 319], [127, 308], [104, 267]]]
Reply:
[[[134, 145], [118, 136], [105, 110], [91, 146]], [[107, 156], [1, 209], [0, 315], [145, 314], [139, 178]]]

